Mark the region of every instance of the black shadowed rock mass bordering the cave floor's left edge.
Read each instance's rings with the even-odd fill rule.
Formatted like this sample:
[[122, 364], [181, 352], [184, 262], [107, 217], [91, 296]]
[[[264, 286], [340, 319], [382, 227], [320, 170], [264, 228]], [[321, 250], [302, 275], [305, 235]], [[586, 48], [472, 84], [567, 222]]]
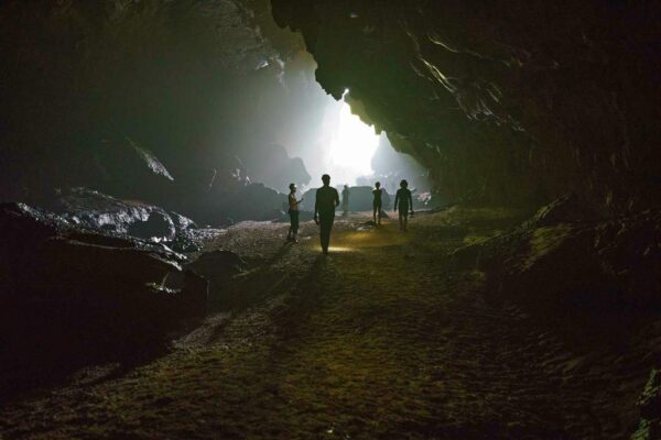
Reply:
[[153, 244], [73, 228], [22, 204], [0, 205], [1, 392], [93, 360], [153, 351], [185, 318], [203, 316], [207, 282]]

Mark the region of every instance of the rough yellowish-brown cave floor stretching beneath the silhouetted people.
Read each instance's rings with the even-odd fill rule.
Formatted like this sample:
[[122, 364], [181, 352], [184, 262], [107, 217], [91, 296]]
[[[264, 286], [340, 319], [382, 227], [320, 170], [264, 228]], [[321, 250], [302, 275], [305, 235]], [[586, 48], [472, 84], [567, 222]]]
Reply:
[[253, 267], [215, 299], [226, 311], [127, 373], [6, 404], [0, 438], [626, 438], [640, 353], [573, 344], [453, 263], [516, 217], [418, 215], [401, 233], [355, 213], [328, 256], [312, 222], [299, 244], [240, 223], [209, 244]]

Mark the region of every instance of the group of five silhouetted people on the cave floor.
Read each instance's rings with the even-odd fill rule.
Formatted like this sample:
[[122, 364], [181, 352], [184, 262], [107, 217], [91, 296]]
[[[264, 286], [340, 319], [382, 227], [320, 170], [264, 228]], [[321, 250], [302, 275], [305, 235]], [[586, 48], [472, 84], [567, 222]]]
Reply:
[[[323, 186], [316, 190], [316, 200], [314, 202], [314, 222], [319, 226], [319, 235], [322, 242], [322, 251], [328, 253], [328, 244], [330, 242], [330, 230], [335, 221], [335, 209], [339, 206], [339, 194], [337, 189], [330, 186], [330, 176], [324, 174], [322, 176]], [[303, 199], [296, 199], [296, 185], [290, 184], [289, 194], [289, 215], [290, 229], [286, 237], [288, 241], [299, 242], [299, 206]], [[343, 193], [343, 208], [345, 216], [349, 212], [349, 187], [345, 185]], [[381, 224], [382, 212], [382, 196], [383, 189], [381, 184], [377, 182], [372, 190], [372, 217], [375, 226]], [[394, 196], [394, 211], [399, 211], [400, 231], [405, 232], [409, 222], [409, 212], [413, 215], [413, 197], [409, 189], [409, 183], [403, 179], [400, 182], [400, 189]]]

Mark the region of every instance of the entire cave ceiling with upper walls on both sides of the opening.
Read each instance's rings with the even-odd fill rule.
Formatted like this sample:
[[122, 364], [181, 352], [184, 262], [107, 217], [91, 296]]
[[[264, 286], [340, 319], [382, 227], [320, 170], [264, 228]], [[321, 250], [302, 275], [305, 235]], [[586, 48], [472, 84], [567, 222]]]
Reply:
[[[325, 91], [339, 99], [349, 89], [354, 111], [451, 200], [540, 204], [574, 193], [604, 211], [639, 209], [661, 185], [660, 8], [7, 1], [3, 197], [98, 180], [89, 165], [98, 150], [127, 139], [175, 176], [232, 167], [249, 145], [296, 130], [292, 119], [319, 118], [321, 98], [304, 87], [295, 99], [269, 91], [312, 80], [316, 65]], [[279, 105], [294, 117], [283, 120]]]

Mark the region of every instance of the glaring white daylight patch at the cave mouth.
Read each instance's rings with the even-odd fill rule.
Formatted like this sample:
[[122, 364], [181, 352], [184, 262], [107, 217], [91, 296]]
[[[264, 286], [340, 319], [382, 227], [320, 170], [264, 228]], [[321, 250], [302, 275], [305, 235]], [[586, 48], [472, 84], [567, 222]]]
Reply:
[[342, 102], [337, 135], [330, 143], [333, 165], [346, 168], [355, 177], [370, 175], [371, 160], [379, 146], [379, 136], [372, 127], [351, 114], [348, 103]]

